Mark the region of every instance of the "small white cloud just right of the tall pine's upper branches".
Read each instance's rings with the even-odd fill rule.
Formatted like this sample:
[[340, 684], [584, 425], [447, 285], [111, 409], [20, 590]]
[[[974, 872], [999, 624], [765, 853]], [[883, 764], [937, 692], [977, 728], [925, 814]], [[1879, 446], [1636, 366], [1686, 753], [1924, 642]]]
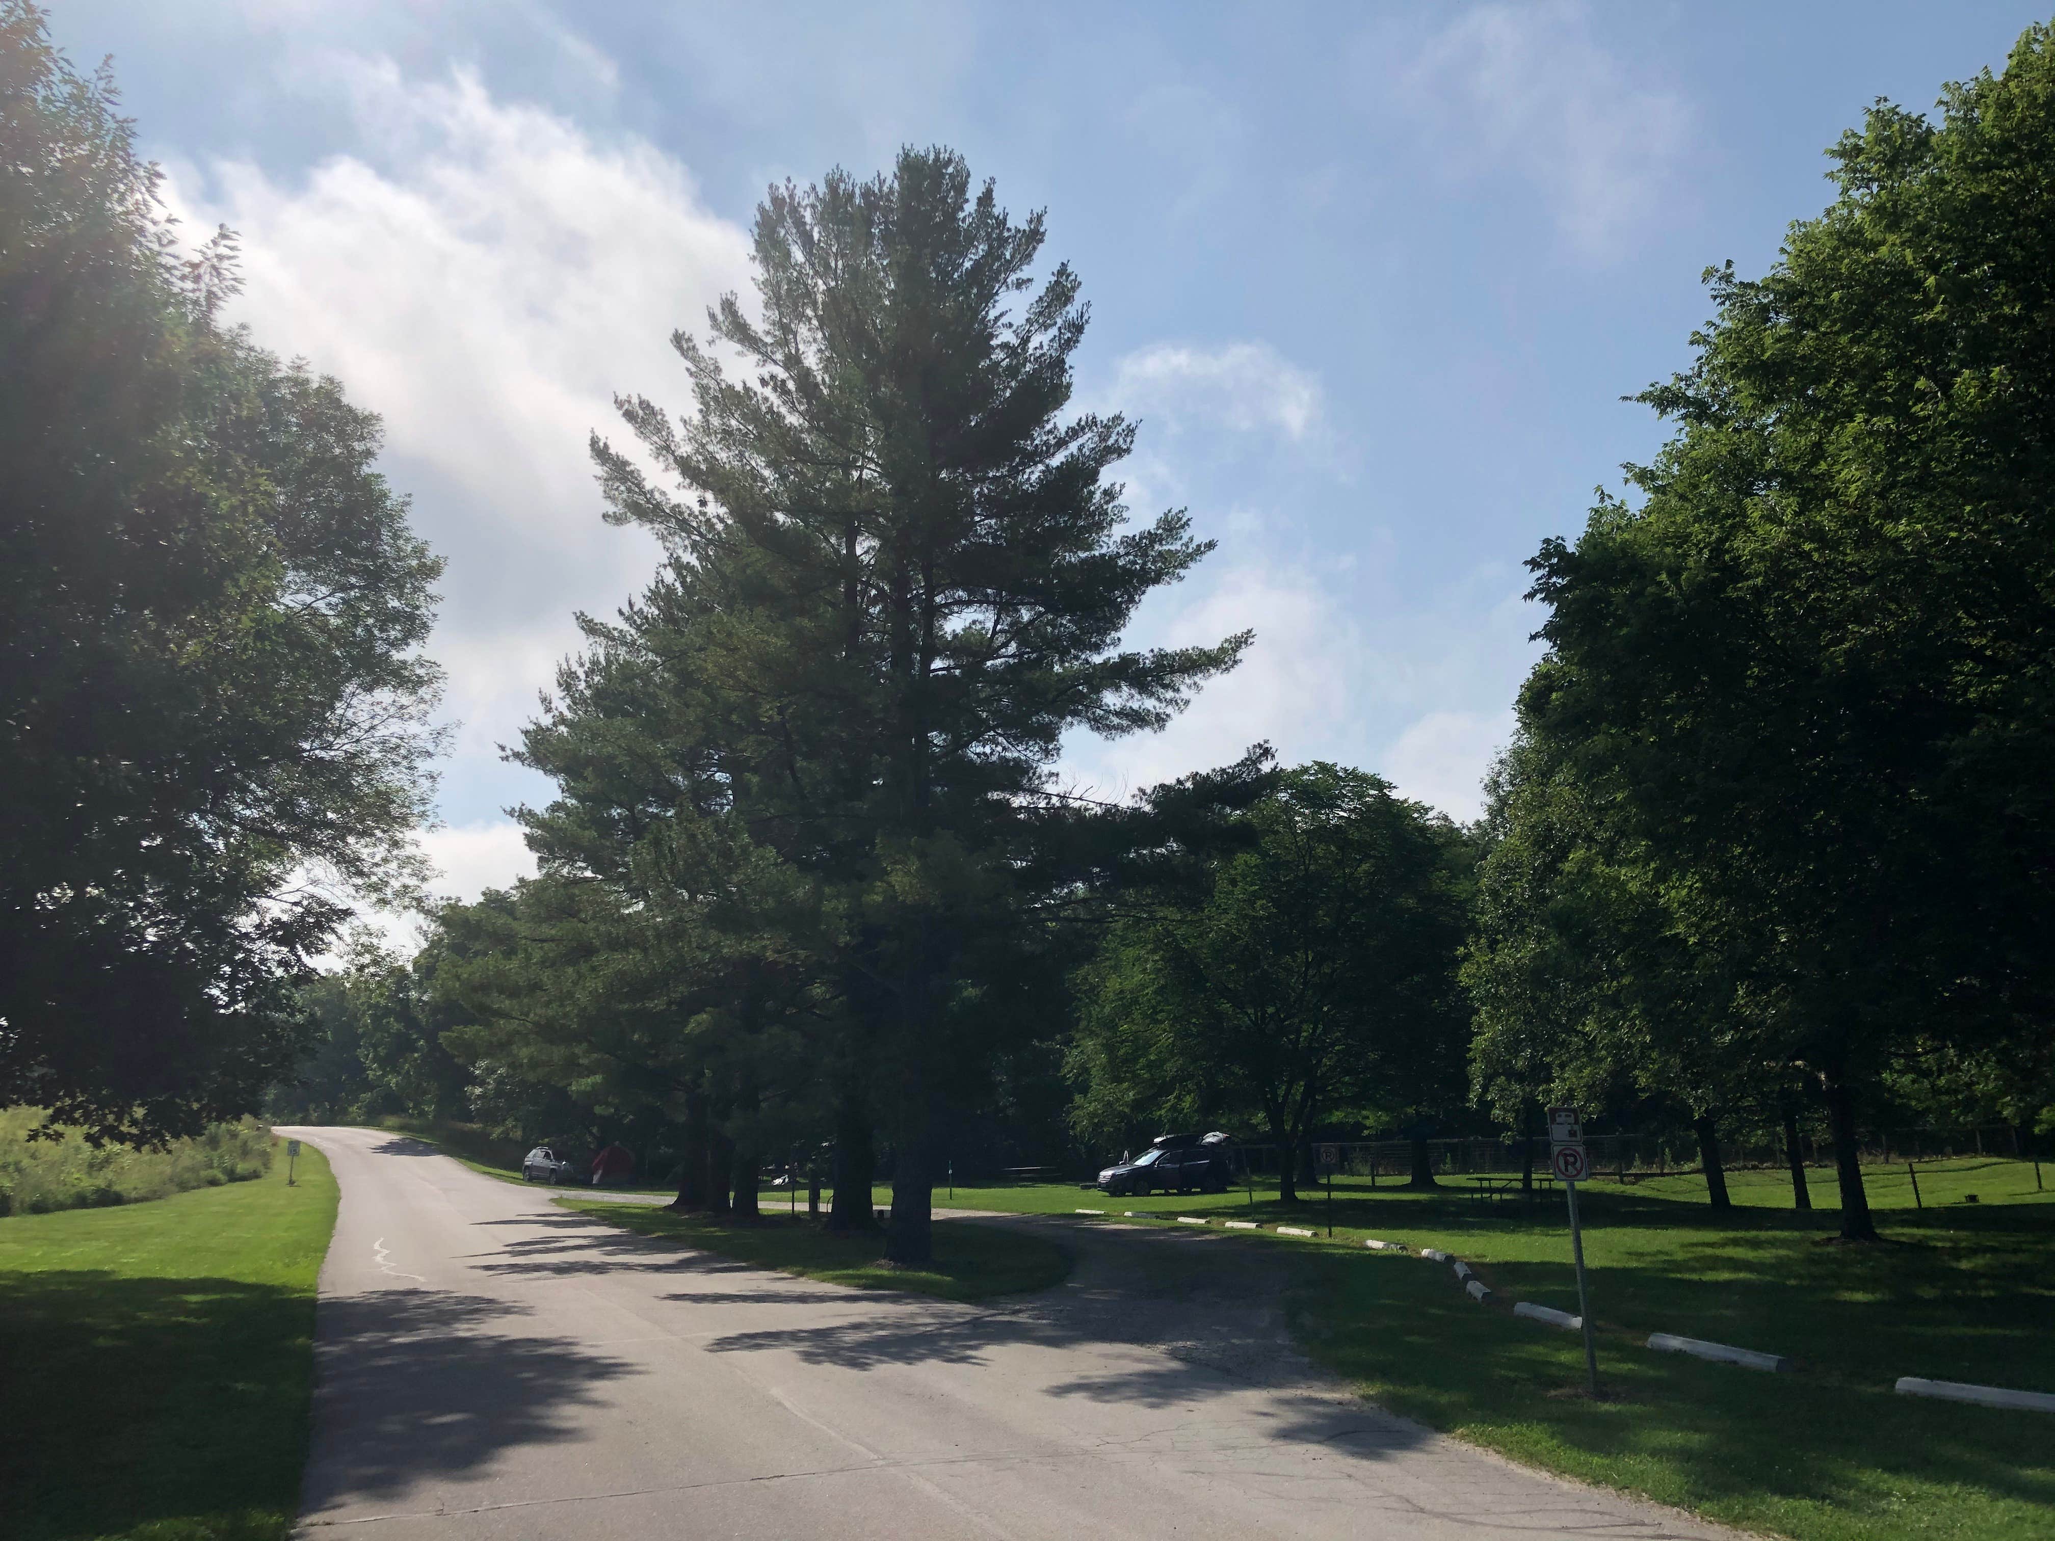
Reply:
[[1112, 399], [1171, 434], [1229, 429], [1303, 444], [1323, 427], [1319, 380], [1270, 343], [1151, 343], [1114, 366]]

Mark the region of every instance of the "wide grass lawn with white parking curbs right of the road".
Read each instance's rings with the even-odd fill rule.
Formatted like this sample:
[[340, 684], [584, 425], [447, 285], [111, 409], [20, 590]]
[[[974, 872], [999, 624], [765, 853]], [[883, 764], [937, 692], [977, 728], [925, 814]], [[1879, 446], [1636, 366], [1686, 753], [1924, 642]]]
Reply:
[[[1515, 1459], [1802, 1541], [2041, 1541], [2055, 1535], [2055, 1416], [1893, 1393], [1901, 1375], [2055, 1391], [2055, 1192], [2032, 1167], [1960, 1159], [1872, 1169], [1886, 1243], [1843, 1247], [1831, 1173], [1810, 1214], [1784, 1173], [1732, 1173], [1732, 1214], [1699, 1177], [1584, 1190], [1599, 1366], [1582, 1385], [1576, 1333], [1506, 1307], [1576, 1309], [1560, 1194], [1531, 1210], [1453, 1192], [1336, 1183], [1336, 1241], [1264, 1235], [1301, 1260], [1295, 1325], [1307, 1350], [1395, 1412]], [[2043, 1181], [2055, 1177], [2045, 1169]], [[1965, 1202], [1977, 1194], [1979, 1202]], [[937, 1202], [945, 1202], [937, 1194]], [[1286, 1220], [1325, 1231], [1325, 1200], [1276, 1194], [1110, 1200], [1062, 1186], [958, 1188], [960, 1206], [1073, 1208]], [[1362, 1237], [1443, 1247], [1498, 1290], [1475, 1305], [1447, 1268], [1360, 1249]], [[1798, 1360], [1763, 1375], [1648, 1352], [1650, 1331]]]

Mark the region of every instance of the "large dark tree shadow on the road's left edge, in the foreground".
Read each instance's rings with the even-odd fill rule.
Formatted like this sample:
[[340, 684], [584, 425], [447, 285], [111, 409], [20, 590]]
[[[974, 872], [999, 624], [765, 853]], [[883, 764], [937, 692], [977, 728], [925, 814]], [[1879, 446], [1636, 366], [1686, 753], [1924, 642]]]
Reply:
[[323, 1301], [302, 1508], [399, 1494], [501, 1451], [582, 1438], [571, 1414], [635, 1366], [520, 1331], [528, 1307], [444, 1290]]

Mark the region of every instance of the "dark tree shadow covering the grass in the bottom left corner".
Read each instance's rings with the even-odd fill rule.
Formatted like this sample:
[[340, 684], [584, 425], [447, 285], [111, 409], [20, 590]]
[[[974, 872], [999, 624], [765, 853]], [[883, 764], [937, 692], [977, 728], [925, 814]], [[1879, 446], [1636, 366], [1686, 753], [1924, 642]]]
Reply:
[[308, 1292], [240, 1280], [0, 1274], [0, 1531], [273, 1533], [306, 1455], [312, 1323]]

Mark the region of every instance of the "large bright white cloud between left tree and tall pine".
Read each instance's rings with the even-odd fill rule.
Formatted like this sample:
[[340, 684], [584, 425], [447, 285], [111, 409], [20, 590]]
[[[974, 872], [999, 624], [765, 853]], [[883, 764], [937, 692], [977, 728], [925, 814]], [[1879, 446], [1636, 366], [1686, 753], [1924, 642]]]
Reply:
[[353, 154], [294, 179], [175, 166], [175, 203], [240, 232], [236, 318], [384, 417], [386, 471], [450, 563], [432, 649], [462, 764], [516, 738], [577, 645], [571, 612], [647, 579], [653, 542], [598, 518], [586, 436], [627, 438], [614, 392], [686, 405], [670, 331], [746, 288], [746, 236], [645, 140], [600, 142], [475, 74], [329, 55], [325, 80]]

